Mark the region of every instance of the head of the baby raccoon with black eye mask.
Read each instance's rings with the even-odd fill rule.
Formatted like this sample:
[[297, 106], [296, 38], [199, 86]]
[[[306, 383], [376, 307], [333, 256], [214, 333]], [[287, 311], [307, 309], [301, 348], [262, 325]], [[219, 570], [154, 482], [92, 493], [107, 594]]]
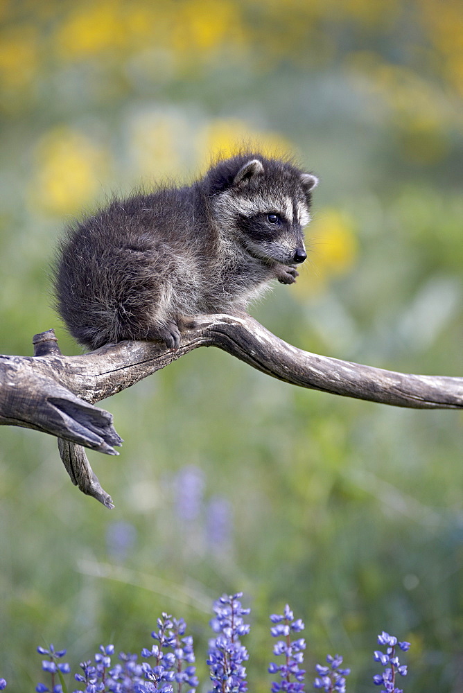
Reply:
[[304, 262], [302, 229], [310, 220], [314, 175], [287, 161], [250, 154], [221, 161], [206, 182], [222, 234], [265, 263]]

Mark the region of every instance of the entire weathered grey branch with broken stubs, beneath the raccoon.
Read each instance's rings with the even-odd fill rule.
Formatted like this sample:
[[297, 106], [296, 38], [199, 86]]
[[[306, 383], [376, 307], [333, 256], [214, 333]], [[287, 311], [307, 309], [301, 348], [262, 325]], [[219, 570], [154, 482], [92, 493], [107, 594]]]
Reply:
[[463, 408], [463, 378], [402, 374], [308, 353], [245, 314], [202, 315], [195, 323], [176, 351], [158, 342], [120, 342], [62, 356], [53, 331], [36, 335], [35, 356], [0, 356], [0, 424], [67, 439], [60, 442], [60, 454], [73, 483], [112, 507], [80, 445], [116, 454], [112, 446], [121, 439], [111, 415], [89, 403], [121, 392], [198, 347], [218, 347], [274, 378], [322, 392], [399, 407]]

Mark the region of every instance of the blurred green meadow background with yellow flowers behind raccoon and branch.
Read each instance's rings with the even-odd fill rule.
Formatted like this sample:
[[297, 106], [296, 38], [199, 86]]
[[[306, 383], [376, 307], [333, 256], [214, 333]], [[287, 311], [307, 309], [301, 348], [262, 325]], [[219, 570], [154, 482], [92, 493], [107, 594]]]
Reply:
[[[0, 21], [1, 353], [51, 327], [80, 353], [48, 277], [71, 218], [245, 141], [320, 176], [302, 276], [252, 315], [308, 351], [462, 373], [459, 1], [3, 0]], [[103, 406], [125, 439], [89, 454], [113, 511], [72, 486], [52, 437], [0, 430], [8, 690], [43, 681], [37, 644], [78, 667], [102, 642], [150, 647], [168, 611], [205, 692], [211, 602], [238, 590], [254, 693], [286, 602], [309, 672], [339, 652], [348, 690], [374, 690], [385, 629], [412, 642], [407, 693], [463, 690], [460, 412], [297, 389], [214, 349]]]

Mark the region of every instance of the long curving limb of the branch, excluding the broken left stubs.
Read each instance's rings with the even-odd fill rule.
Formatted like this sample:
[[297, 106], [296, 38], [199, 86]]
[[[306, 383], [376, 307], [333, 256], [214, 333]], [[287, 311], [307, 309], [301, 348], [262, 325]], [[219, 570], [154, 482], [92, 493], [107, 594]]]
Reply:
[[322, 392], [417, 409], [463, 407], [463, 378], [396, 373], [319, 356], [283, 342], [249, 315], [200, 316], [176, 351], [158, 342], [120, 342], [83, 356], [31, 360], [40, 371], [59, 372], [61, 383], [94, 403], [198, 347], [218, 347], [274, 378]]

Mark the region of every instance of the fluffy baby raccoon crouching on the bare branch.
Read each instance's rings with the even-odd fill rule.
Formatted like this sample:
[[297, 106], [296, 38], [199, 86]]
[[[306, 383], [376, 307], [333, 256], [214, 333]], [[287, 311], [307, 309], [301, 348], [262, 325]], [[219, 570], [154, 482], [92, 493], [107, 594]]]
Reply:
[[288, 161], [240, 154], [191, 186], [113, 200], [76, 222], [53, 270], [71, 335], [91, 349], [177, 348], [192, 316], [243, 311], [270, 280], [291, 284], [316, 185]]

